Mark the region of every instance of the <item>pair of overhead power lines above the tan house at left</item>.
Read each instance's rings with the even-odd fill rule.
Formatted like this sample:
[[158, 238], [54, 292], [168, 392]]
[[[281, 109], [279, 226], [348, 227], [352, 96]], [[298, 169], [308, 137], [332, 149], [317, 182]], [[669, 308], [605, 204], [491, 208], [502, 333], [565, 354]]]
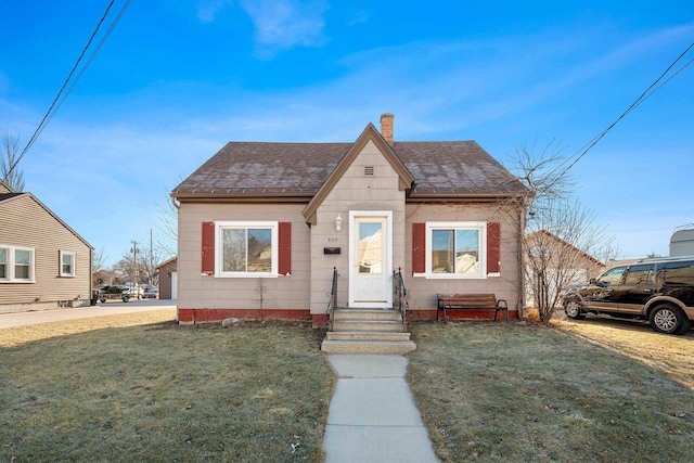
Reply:
[[51, 103], [51, 105], [48, 108], [48, 111], [46, 112], [46, 115], [43, 115], [43, 118], [41, 119], [41, 123], [39, 124], [39, 126], [34, 131], [34, 134], [31, 136], [31, 138], [27, 142], [26, 146], [24, 146], [24, 150], [22, 150], [22, 153], [15, 159], [14, 164], [12, 166], [10, 166], [10, 171], [14, 170], [14, 168], [20, 163], [20, 160], [22, 160], [24, 155], [29, 151], [29, 149], [31, 147], [34, 142], [36, 142], [36, 140], [39, 138], [39, 136], [41, 134], [41, 132], [43, 131], [43, 129], [46, 128], [48, 123], [53, 118], [53, 116], [55, 115], [57, 110], [61, 107], [61, 105], [63, 104], [63, 102], [65, 101], [67, 95], [75, 88], [75, 86], [79, 81], [79, 78], [85, 74], [85, 70], [87, 70], [87, 67], [89, 67], [89, 65], [93, 61], [94, 56], [97, 55], [99, 50], [101, 50], [101, 48], [103, 47], [104, 42], [106, 41], [106, 39], [108, 38], [108, 36], [111, 35], [113, 29], [115, 28], [115, 26], [118, 23], [118, 21], [120, 21], [120, 17], [124, 15], [126, 10], [128, 9], [128, 5], [130, 4], [130, 1], [131, 0], [127, 0], [126, 1], [124, 7], [120, 9], [120, 12], [118, 13], [118, 15], [115, 17], [115, 20], [111, 24], [111, 27], [108, 28], [108, 30], [104, 34], [104, 36], [102, 37], [102, 39], [99, 42], [99, 44], [92, 51], [92, 53], [89, 56], [89, 59], [87, 60], [86, 64], [81, 67], [81, 69], [79, 69], [79, 73], [76, 75], [76, 77], [73, 78], [75, 76], [75, 73], [77, 72], [82, 59], [87, 54], [87, 51], [91, 47], [92, 41], [97, 37], [97, 35], [99, 33], [99, 29], [101, 28], [102, 24], [104, 23], [104, 21], [108, 16], [108, 12], [111, 11], [111, 8], [115, 3], [115, 0], [111, 0], [108, 5], [106, 7], [106, 11], [101, 16], [101, 20], [99, 20], [99, 23], [97, 24], [97, 27], [94, 28], [94, 30], [91, 33], [91, 36], [89, 37], [89, 40], [87, 40], [87, 44], [85, 46], [85, 48], [82, 49], [81, 53], [79, 54], [79, 57], [77, 57], [77, 61], [75, 62], [75, 65], [73, 66], [73, 68], [70, 69], [69, 74], [65, 78], [65, 81], [63, 82], [61, 89], [57, 91], [57, 94], [53, 99], [53, 102]]

